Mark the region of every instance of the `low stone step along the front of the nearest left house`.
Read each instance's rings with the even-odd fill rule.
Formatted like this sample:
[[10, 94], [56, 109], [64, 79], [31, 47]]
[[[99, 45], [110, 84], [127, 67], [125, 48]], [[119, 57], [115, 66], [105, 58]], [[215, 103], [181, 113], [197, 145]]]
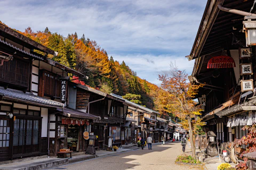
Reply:
[[68, 158], [42, 158], [0, 165], [4, 170], [39, 170], [68, 164]]

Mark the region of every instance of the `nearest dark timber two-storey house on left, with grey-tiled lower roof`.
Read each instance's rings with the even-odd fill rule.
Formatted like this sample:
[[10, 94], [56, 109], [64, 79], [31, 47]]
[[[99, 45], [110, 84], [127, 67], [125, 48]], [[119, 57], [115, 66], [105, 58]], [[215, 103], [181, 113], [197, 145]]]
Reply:
[[54, 51], [0, 24], [0, 161], [48, 153], [48, 110], [64, 104], [37, 96], [47, 54]]

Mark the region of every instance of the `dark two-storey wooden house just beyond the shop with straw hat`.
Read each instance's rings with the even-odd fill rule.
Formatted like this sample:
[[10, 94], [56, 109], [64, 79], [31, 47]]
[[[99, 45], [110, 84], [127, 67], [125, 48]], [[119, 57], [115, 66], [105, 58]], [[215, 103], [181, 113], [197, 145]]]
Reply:
[[97, 135], [95, 148], [106, 149], [109, 137], [113, 139], [113, 145], [123, 145], [128, 108], [124, 100], [81, 84], [77, 84], [76, 89], [76, 109], [100, 117], [85, 128], [87, 132]]

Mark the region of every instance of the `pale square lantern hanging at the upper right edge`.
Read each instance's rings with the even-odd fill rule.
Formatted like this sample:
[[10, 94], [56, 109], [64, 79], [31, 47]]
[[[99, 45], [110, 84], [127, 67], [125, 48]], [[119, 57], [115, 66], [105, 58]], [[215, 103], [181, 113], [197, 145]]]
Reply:
[[245, 16], [243, 32], [245, 32], [246, 47], [256, 45], [256, 16]]

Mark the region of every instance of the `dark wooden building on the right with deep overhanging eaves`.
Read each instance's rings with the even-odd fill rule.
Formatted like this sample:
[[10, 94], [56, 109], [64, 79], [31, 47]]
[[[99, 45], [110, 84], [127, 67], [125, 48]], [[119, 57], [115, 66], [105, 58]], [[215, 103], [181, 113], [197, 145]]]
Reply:
[[209, 0], [187, 56], [195, 60], [190, 82], [204, 84], [197, 98], [204, 109], [206, 131], [213, 131], [221, 143], [243, 137], [242, 127], [256, 122], [255, 44], [250, 44], [246, 28], [248, 22], [255, 22], [251, 16], [255, 14], [249, 13], [252, 6], [252, 0]]

